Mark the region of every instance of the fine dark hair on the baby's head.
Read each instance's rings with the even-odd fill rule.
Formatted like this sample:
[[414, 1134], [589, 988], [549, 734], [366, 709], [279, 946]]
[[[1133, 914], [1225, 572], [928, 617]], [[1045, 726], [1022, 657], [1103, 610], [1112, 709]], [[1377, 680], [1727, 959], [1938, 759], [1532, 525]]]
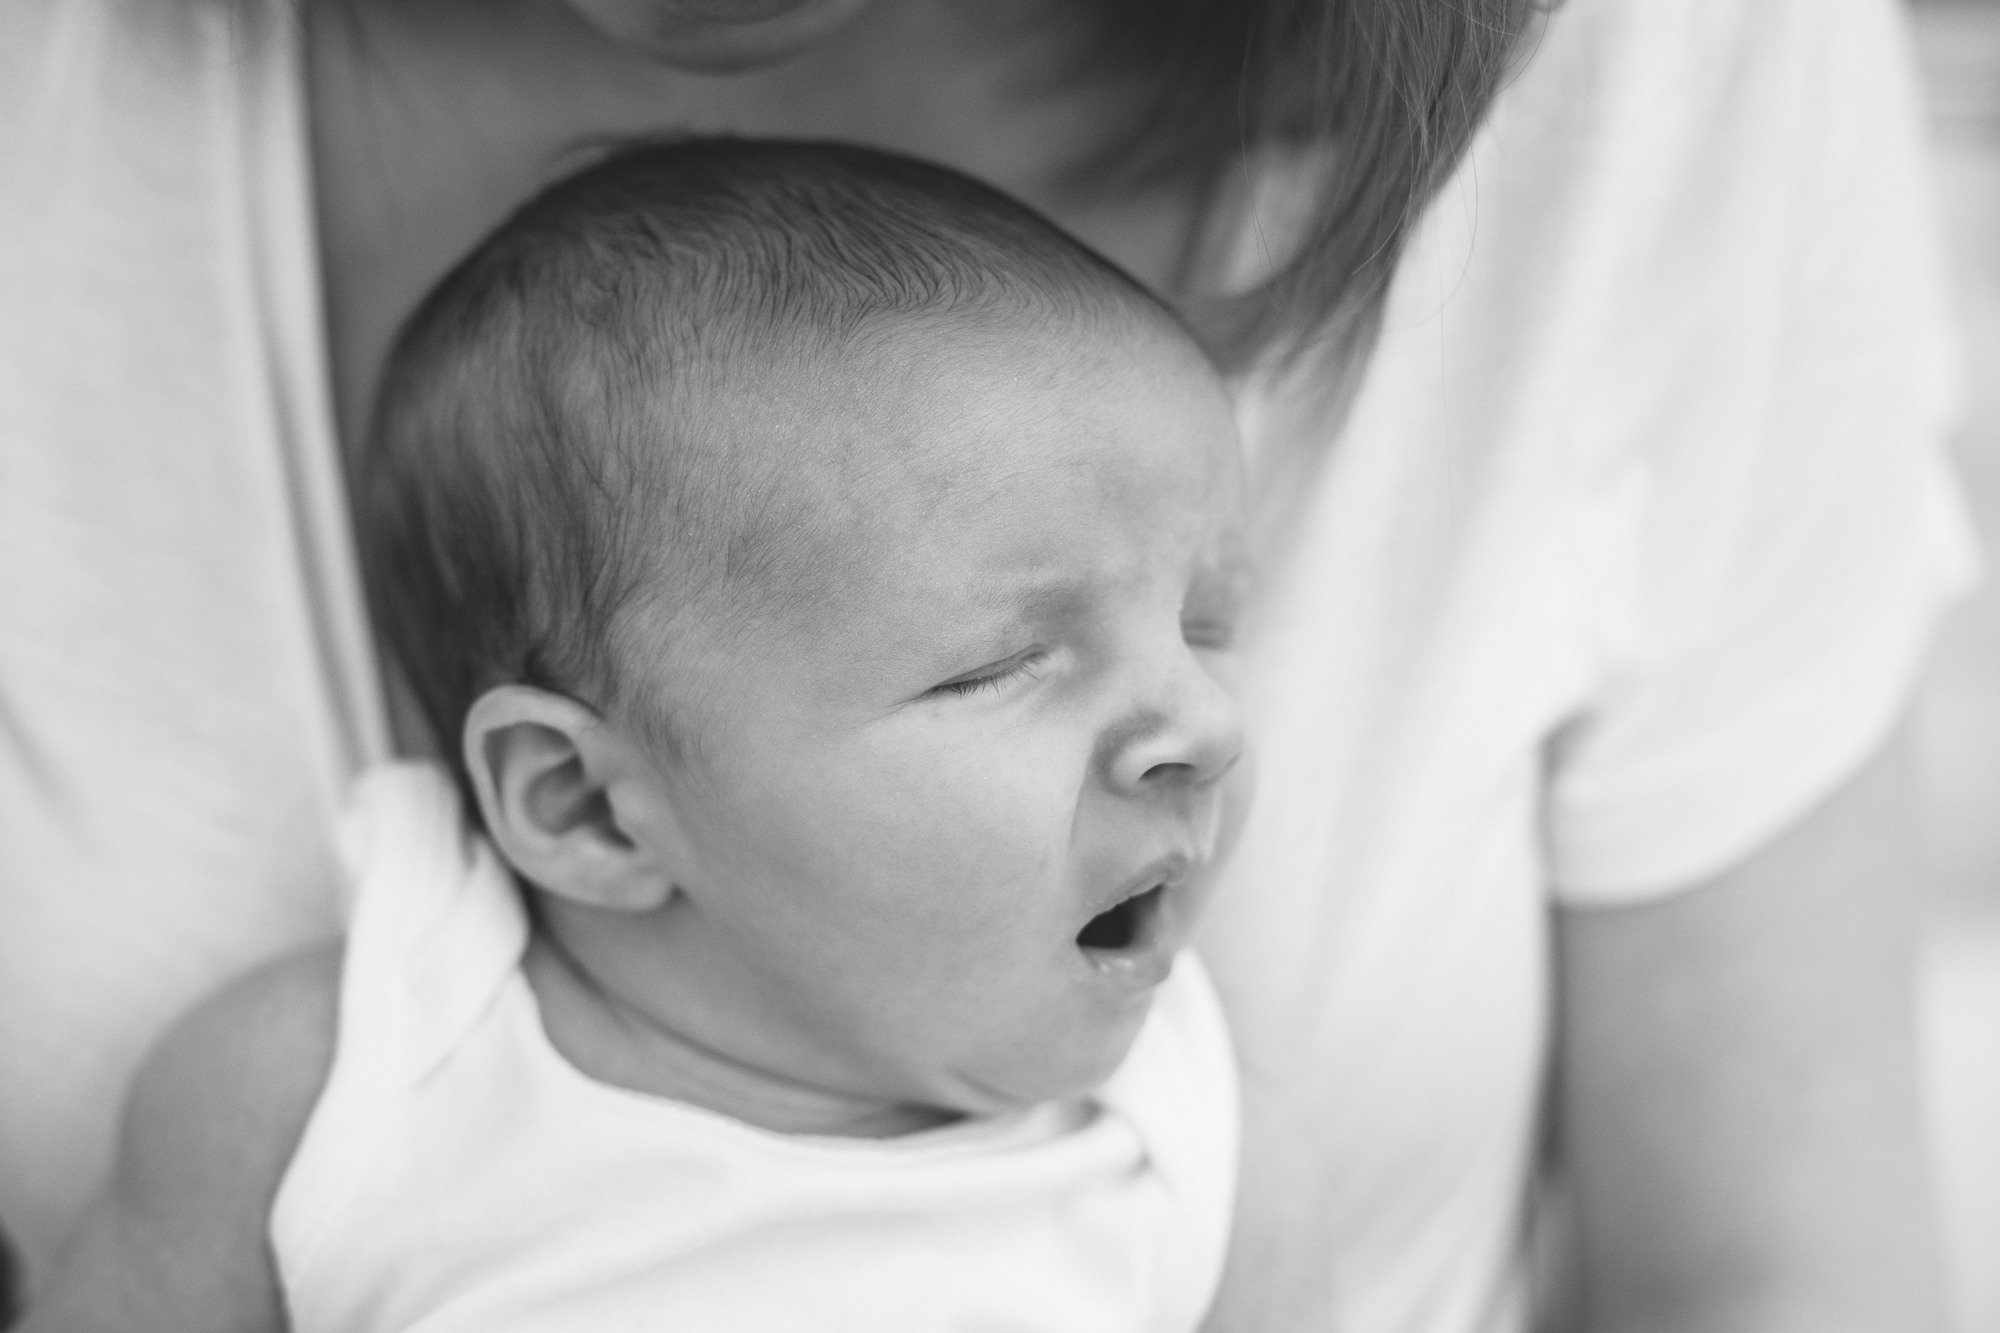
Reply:
[[354, 472], [376, 622], [460, 783], [496, 685], [614, 707], [622, 620], [704, 566], [662, 552], [756, 564], [716, 386], [994, 312], [1174, 322], [998, 190], [846, 144], [626, 146], [500, 224], [404, 324]]

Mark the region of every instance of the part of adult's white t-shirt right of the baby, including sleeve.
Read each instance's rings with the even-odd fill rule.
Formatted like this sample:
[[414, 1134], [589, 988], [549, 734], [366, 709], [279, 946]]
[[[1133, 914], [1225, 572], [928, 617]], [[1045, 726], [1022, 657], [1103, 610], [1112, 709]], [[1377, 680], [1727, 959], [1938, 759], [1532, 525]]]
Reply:
[[[1328, 1237], [1342, 1327], [1518, 1327], [1548, 909], [1800, 819], [1970, 578], [1924, 176], [1888, 0], [1570, 0], [1428, 212], [1264, 602], [1204, 941], [1246, 1225]], [[1258, 1151], [1308, 1133], [1332, 1179]]]

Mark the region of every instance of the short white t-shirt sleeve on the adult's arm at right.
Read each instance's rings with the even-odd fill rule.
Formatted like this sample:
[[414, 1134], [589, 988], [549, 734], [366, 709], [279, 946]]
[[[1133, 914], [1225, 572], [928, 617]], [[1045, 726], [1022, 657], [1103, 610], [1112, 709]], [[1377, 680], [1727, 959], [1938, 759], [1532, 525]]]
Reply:
[[1688, 8], [1708, 68], [1576, 412], [1604, 671], [1554, 747], [1564, 905], [1702, 883], [1830, 795], [1976, 564], [1898, 14]]

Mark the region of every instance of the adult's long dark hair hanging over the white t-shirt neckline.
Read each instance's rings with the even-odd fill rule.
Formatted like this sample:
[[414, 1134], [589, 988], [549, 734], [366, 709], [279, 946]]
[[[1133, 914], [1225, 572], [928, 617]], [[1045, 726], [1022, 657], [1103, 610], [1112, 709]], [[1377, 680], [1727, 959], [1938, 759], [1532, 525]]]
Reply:
[[[1200, 308], [1246, 362], [1328, 342], [1362, 352], [1420, 212], [1472, 144], [1554, 0], [1090, 0], [1084, 76], [1136, 80], [1094, 158], [1112, 184], [1214, 190], [1252, 150], [1324, 148], [1302, 244], [1260, 286]], [[1222, 218], [1226, 224], [1228, 218]]]

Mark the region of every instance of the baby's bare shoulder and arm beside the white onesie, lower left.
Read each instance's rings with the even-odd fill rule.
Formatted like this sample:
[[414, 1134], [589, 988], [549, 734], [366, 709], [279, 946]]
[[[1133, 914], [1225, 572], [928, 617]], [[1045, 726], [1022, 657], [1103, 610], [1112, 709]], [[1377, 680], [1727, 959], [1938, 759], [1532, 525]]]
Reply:
[[272, 1197], [326, 1081], [338, 953], [228, 987], [154, 1049], [112, 1183], [22, 1333], [282, 1333]]

